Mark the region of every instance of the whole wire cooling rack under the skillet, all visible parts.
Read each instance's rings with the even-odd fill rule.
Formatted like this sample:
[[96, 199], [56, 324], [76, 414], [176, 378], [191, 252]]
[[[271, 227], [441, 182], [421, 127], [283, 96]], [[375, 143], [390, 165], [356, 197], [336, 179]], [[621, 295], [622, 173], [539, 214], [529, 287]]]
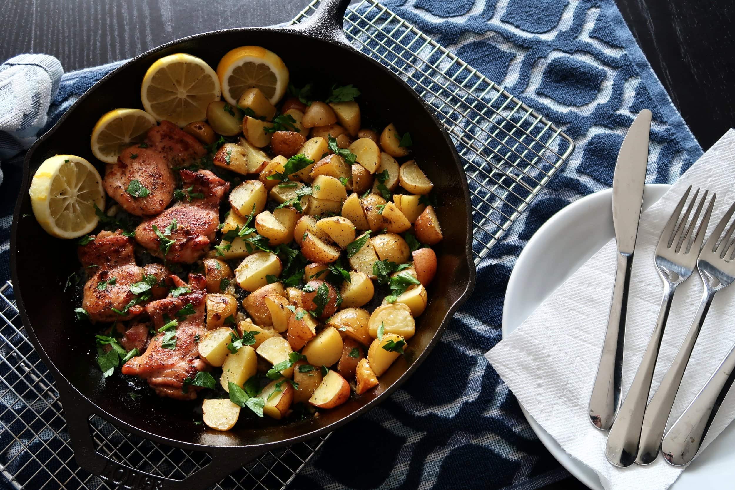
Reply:
[[[319, 1], [293, 21], [308, 18]], [[475, 262], [490, 251], [573, 151], [574, 143], [526, 104], [374, 0], [345, 15], [348, 38], [401, 76], [437, 112], [465, 164], [473, 204]], [[12, 300], [0, 287], [0, 472], [15, 489], [108, 489], [73, 460], [59, 394], [29, 342]], [[167, 478], [209, 461], [90, 420], [96, 450]], [[329, 437], [266, 453], [215, 489], [284, 489]]]

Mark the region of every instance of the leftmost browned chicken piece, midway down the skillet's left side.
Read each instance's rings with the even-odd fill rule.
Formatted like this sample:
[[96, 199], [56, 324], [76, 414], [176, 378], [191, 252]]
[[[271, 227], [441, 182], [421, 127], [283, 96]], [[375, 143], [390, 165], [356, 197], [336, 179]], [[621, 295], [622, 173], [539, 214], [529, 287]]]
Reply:
[[79, 246], [79, 262], [91, 275], [84, 287], [82, 308], [92, 322], [129, 320], [143, 313], [140, 305], [125, 310], [135, 298], [130, 285], [143, 279], [143, 269], [135, 264], [133, 244], [122, 230], [100, 231], [87, 245]]

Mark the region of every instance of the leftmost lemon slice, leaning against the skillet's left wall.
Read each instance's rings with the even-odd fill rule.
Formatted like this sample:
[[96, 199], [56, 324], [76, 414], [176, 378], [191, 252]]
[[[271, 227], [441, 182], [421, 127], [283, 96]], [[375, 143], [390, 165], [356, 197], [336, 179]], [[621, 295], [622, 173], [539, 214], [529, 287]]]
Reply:
[[94, 205], [104, 210], [102, 178], [80, 156], [56, 155], [38, 167], [31, 188], [33, 214], [38, 224], [57, 238], [82, 237], [99, 218]]

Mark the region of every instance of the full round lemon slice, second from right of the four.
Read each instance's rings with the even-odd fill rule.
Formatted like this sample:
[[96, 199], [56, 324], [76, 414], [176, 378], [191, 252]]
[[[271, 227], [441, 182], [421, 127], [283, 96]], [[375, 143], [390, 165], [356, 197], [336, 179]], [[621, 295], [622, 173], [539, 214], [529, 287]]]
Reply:
[[201, 58], [171, 54], [148, 68], [140, 99], [156, 120], [170, 120], [183, 127], [207, 118], [209, 102], [220, 100], [220, 81]]

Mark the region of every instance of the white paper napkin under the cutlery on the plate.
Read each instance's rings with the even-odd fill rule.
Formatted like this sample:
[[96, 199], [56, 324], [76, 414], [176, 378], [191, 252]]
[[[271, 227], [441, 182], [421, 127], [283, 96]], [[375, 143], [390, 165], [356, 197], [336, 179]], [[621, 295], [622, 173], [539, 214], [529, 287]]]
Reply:
[[[661, 229], [690, 184], [717, 192], [709, 233], [735, 201], [735, 131], [709, 149], [661, 200], [644, 212], [631, 277], [625, 329], [623, 396], [643, 357], [662, 296], [653, 265]], [[692, 191], [693, 192], [693, 191]], [[701, 194], [700, 194], [701, 195]], [[708, 198], [709, 201], [709, 198]], [[550, 260], [552, 258], [550, 257]], [[606, 489], [667, 489], [682, 469], [659, 458], [649, 466], [620, 469], [609, 464], [607, 433], [592, 427], [589, 394], [598, 367], [615, 271], [614, 239], [556, 289], [523, 325], [486, 354], [518, 401], [570, 455], [590, 466]], [[703, 287], [695, 272], [676, 291], [664, 332], [653, 390], [671, 364], [698, 307]], [[667, 428], [699, 392], [735, 342], [735, 285], [718, 292], [684, 373]], [[704, 446], [735, 417], [735, 390], [720, 408]]]

